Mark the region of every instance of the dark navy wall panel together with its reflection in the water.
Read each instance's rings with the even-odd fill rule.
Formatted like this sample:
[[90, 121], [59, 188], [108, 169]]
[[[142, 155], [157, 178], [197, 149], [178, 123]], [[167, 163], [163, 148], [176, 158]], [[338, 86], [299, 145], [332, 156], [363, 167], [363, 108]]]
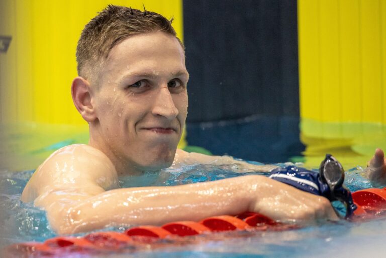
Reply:
[[183, 7], [189, 145], [262, 162], [301, 155], [296, 0]]

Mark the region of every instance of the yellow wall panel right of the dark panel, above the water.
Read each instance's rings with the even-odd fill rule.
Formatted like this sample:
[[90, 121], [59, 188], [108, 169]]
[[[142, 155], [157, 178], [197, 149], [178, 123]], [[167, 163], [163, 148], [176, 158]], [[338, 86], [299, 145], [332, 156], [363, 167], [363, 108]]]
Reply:
[[301, 118], [386, 124], [386, 1], [298, 0]]

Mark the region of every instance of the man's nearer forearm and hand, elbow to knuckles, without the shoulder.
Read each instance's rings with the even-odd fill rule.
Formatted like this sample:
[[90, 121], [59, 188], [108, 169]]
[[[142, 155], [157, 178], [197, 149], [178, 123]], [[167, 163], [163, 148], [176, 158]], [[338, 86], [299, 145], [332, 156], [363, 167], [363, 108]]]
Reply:
[[79, 192], [75, 200], [68, 199], [63, 193], [51, 192], [37, 204], [45, 207], [52, 228], [59, 234], [85, 232], [108, 225], [199, 221], [209, 216], [236, 215], [245, 211], [300, 223], [337, 219], [327, 199], [258, 175], [92, 194]]

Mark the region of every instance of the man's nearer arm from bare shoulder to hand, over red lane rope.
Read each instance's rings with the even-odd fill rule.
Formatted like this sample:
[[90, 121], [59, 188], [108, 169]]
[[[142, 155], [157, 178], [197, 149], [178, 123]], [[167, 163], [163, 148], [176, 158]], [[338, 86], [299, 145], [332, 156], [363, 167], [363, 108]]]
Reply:
[[[47, 211], [59, 234], [108, 225], [160, 225], [255, 211], [278, 220], [336, 219], [323, 197], [251, 175], [173, 187], [119, 187], [110, 160], [87, 145], [62, 148], [34, 173], [22, 194]], [[335, 217], [334, 217], [335, 216]]]

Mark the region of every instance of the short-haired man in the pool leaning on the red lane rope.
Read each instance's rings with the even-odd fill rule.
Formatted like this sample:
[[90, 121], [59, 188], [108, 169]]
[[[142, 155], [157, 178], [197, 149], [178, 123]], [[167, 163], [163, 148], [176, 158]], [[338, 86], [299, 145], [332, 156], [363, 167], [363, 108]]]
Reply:
[[[258, 175], [181, 186], [120, 188], [120, 176], [171, 165], [236, 161], [177, 149], [187, 115], [189, 74], [183, 45], [163, 16], [108, 6], [83, 30], [77, 62], [79, 77], [73, 80], [71, 92], [89, 124], [89, 144], [53, 153], [36, 170], [21, 197], [44, 208], [57, 233], [161, 225], [244, 211], [283, 222], [337, 219], [324, 197]], [[386, 177], [384, 164], [373, 174]]]

